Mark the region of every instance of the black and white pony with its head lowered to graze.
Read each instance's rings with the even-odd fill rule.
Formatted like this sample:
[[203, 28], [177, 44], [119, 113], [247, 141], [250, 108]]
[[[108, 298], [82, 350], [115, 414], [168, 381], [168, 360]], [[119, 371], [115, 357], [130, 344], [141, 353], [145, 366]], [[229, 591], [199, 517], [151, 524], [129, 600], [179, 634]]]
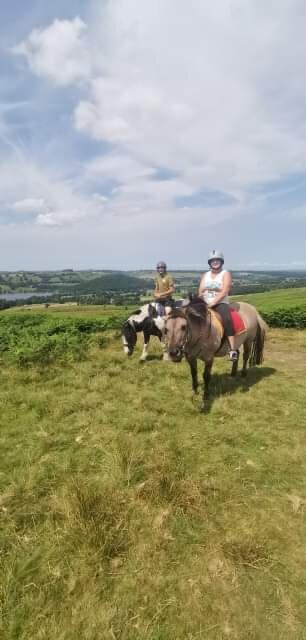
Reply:
[[143, 333], [143, 350], [140, 360], [144, 362], [148, 357], [148, 345], [151, 336], [159, 338], [163, 349], [163, 360], [168, 360], [165, 344], [165, 318], [158, 314], [156, 303], [150, 302], [143, 305], [124, 322], [121, 331], [122, 342], [124, 353], [128, 356], [132, 355], [137, 342], [137, 333], [141, 331]]

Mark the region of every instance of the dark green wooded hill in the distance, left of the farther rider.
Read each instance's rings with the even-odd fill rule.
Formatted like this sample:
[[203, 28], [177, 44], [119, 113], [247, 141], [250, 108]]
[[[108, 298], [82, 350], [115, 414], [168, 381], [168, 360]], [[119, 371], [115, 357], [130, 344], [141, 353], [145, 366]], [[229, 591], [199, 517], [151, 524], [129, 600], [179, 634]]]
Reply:
[[146, 291], [152, 289], [152, 280], [129, 276], [122, 272], [110, 273], [88, 282], [78, 284], [78, 293], [101, 293], [102, 291]]

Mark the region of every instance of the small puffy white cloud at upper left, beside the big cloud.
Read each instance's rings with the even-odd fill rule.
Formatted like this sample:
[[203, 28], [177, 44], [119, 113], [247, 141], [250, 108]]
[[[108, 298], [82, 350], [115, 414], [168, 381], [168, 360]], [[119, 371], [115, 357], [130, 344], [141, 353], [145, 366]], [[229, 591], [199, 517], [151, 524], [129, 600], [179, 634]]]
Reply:
[[13, 52], [26, 57], [33, 73], [58, 86], [86, 80], [91, 62], [86, 44], [86, 24], [74, 20], [54, 20], [45, 29], [34, 29]]

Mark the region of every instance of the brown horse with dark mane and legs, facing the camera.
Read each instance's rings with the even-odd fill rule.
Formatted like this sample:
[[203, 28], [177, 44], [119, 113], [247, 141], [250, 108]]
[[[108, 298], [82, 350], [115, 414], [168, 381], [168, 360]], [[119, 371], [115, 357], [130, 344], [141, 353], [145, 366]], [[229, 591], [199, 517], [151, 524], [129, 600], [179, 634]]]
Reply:
[[[239, 312], [245, 326], [245, 331], [235, 336], [236, 349], [243, 345], [241, 373], [245, 376], [248, 363], [254, 366], [263, 361], [267, 325], [252, 305], [235, 302], [231, 306]], [[184, 310], [171, 312], [166, 318], [165, 332], [170, 359], [180, 362], [185, 355], [189, 363], [194, 392], [198, 389], [197, 359], [205, 362], [204, 400], [208, 397], [214, 358], [225, 356], [229, 351], [220, 319], [202, 299], [194, 298]], [[237, 369], [238, 360], [233, 362], [231, 375], [236, 375]]]

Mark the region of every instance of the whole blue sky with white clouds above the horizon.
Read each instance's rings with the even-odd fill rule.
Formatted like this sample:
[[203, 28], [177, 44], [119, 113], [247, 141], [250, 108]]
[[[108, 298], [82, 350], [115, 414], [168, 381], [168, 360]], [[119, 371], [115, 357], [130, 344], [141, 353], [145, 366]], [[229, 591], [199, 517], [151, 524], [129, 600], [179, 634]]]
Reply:
[[4, 5], [0, 270], [306, 268], [305, 0]]

